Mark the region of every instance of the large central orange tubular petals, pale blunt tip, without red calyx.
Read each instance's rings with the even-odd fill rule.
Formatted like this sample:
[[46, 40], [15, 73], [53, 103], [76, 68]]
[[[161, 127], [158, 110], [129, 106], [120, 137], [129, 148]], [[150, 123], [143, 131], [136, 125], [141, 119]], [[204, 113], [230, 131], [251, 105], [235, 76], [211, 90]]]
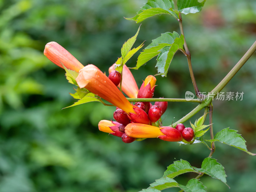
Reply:
[[80, 88], [86, 88], [126, 113], [135, 113], [133, 105], [123, 93], [95, 65], [86, 65], [79, 71], [76, 82]]

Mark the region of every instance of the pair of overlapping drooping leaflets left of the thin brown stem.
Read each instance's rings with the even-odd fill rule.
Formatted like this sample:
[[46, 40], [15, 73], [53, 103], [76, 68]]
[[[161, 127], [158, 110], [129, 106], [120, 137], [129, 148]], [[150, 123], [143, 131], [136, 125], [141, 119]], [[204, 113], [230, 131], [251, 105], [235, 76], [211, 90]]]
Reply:
[[183, 44], [183, 35], [179, 36], [175, 31], [173, 33], [166, 32], [161, 34], [160, 37], [152, 40], [152, 43], [140, 53], [134, 69], [140, 68], [140, 66], [158, 55], [156, 59], [157, 71], [162, 76], [166, 76], [175, 52], [183, 49]]

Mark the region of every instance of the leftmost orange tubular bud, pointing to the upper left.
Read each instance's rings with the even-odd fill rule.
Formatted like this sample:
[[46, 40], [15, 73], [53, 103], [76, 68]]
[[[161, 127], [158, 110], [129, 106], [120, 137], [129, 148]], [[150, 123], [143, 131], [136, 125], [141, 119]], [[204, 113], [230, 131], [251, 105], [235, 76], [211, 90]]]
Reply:
[[84, 67], [73, 55], [56, 42], [49, 42], [45, 45], [44, 55], [54, 64], [63, 68], [79, 72]]

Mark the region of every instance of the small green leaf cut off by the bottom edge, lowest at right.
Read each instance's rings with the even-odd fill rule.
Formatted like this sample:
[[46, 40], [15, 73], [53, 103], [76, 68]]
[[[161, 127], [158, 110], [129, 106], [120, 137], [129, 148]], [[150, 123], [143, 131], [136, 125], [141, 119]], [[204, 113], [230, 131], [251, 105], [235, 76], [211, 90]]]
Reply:
[[179, 184], [179, 187], [185, 192], [206, 192], [206, 187], [198, 179], [190, 179], [186, 186]]

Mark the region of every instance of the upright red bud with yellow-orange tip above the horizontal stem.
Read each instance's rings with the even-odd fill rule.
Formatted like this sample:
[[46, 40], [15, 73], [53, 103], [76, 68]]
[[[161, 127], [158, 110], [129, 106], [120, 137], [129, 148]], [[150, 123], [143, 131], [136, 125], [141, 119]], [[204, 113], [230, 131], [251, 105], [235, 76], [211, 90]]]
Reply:
[[155, 91], [156, 78], [153, 75], [148, 75], [143, 81], [137, 98], [152, 98]]

